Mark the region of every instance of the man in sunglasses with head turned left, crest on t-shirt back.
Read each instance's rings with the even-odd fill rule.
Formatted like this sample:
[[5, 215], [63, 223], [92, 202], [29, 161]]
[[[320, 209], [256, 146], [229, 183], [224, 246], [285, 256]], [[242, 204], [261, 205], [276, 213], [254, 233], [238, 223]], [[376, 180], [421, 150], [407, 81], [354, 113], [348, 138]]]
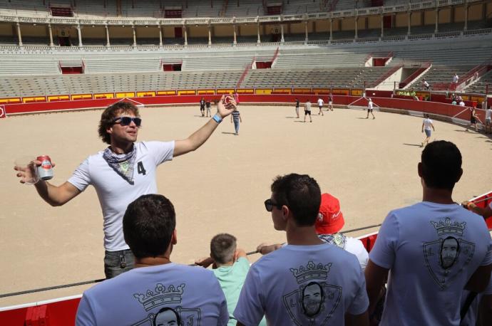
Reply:
[[[321, 191], [308, 175], [273, 182], [265, 209], [287, 246], [254, 263], [234, 311], [237, 325], [369, 325], [365, 281], [357, 258], [321, 241], [314, 224]], [[328, 263], [329, 262], [329, 263]], [[343, 290], [342, 290], [343, 289]]]

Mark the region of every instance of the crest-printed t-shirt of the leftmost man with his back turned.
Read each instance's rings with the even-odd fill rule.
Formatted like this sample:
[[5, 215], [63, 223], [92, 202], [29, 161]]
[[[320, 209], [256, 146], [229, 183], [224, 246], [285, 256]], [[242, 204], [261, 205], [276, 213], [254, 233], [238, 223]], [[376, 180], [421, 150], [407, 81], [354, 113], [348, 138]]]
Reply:
[[[172, 310], [160, 312], [164, 307]], [[211, 270], [176, 263], [129, 270], [83, 293], [76, 325], [155, 325], [154, 318], [176, 314], [182, 323], [162, 325], [227, 325], [225, 296]]]

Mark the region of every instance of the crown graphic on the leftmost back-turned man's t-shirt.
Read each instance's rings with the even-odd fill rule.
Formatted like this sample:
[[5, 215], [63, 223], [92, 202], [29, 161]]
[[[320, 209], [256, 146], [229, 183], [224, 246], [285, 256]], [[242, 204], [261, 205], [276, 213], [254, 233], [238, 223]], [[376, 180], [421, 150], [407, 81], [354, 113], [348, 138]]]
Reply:
[[166, 290], [164, 285], [158, 283], [155, 285], [154, 291], [147, 290], [146, 293], [135, 293], [133, 297], [143, 305], [145, 311], [148, 311], [160, 305], [176, 305], [181, 303], [184, 288], [185, 284], [183, 283], [177, 287], [169, 285]]

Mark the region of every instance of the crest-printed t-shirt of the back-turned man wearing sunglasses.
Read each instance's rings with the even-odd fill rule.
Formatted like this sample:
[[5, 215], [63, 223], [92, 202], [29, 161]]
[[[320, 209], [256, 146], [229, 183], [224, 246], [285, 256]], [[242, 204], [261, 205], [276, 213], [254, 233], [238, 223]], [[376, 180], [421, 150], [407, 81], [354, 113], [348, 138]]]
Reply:
[[242, 324], [344, 325], [369, 300], [357, 258], [329, 243], [287, 245], [262, 256], [247, 274], [234, 316]]

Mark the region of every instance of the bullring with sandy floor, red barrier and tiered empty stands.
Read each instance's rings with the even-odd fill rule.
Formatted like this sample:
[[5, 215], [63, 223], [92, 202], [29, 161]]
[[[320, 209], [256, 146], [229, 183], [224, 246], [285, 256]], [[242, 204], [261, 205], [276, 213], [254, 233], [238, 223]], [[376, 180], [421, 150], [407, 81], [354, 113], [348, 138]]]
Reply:
[[[453, 199], [491, 191], [490, 0], [46, 2], [0, 0], [0, 312], [93, 284], [31, 290], [104, 278], [93, 187], [51, 207], [13, 167], [48, 154], [51, 182], [66, 182], [106, 147], [101, 112], [121, 100], [140, 107], [139, 141], [167, 141], [207, 122], [200, 98], [239, 95], [239, 135], [227, 117], [198, 150], [158, 167], [159, 193], [177, 213], [177, 263], [207, 256], [222, 232], [247, 252], [285, 242], [263, 201], [272, 179], [291, 172], [340, 200], [351, 236], [375, 233], [391, 209], [421, 201], [424, 114], [436, 127], [431, 140], [454, 142], [463, 155]], [[312, 123], [303, 122], [308, 99]], [[472, 107], [478, 131], [467, 130]]]

